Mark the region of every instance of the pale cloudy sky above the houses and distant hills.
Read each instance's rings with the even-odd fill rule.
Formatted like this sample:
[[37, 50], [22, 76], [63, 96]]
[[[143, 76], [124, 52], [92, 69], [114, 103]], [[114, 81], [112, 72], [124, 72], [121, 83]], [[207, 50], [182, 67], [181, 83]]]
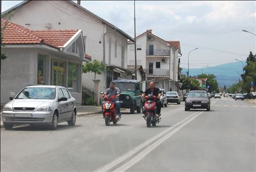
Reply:
[[[20, 2], [2, 1], [1, 11]], [[152, 29], [166, 41], [180, 41], [182, 68], [188, 58], [189, 69], [205, 69], [256, 53], [256, 1], [135, 1], [135, 16], [134, 1], [81, 1], [81, 6], [132, 37], [135, 17], [137, 36]]]

